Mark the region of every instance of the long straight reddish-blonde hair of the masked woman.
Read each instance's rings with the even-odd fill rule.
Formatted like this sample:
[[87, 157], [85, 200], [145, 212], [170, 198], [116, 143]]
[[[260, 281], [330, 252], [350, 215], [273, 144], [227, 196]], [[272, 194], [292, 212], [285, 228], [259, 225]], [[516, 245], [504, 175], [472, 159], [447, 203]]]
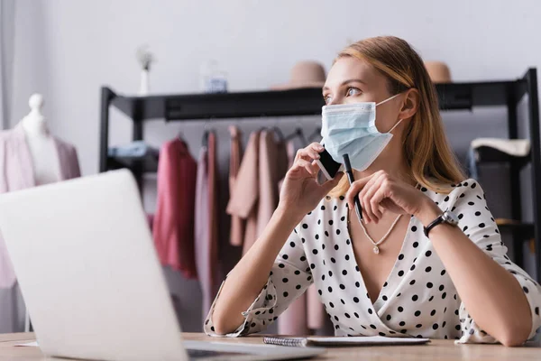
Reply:
[[[445, 137], [436, 87], [417, 51], [397, 37], [379, 36], [353, 43], [341, 51], [336, 60], [343, 57], [367, 61], [378, 69], [389, 79], [391, 95], [417, 89], [417, 113], [408, 122], [403, 138], [410, 176], [421, 186], [442, 193], [450, 192], [451, 184], [464, 180], [461, 166]], [[348, 189], [349, 183], [344, 177], [329, 195], [341, 196]]]

